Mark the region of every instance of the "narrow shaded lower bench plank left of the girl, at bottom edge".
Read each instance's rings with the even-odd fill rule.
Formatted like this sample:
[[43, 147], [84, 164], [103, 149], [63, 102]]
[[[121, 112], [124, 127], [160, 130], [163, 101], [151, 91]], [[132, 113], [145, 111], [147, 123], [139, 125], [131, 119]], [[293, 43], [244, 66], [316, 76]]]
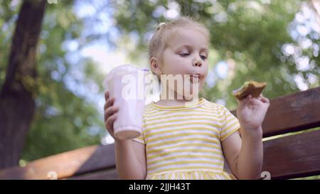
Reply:
[[117, 170], [112, 168], [106, 171], [97, 171], [93, 173], [86, 173], [81, 176], [73, 176], [67, 178], [68, 180], [119, 180]]

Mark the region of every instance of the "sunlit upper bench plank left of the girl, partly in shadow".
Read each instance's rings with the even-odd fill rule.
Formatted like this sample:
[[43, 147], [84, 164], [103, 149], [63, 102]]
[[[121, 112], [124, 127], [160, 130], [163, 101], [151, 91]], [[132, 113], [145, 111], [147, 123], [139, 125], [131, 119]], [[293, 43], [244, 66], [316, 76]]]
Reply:
[[41, 158], [23, 168], [6, 168], [0, 171], [0, 179], [50, 179], [50, 172], [56, 173], [57, 178], [66, 178], [114, 167], [113, 144], [89, 146]]

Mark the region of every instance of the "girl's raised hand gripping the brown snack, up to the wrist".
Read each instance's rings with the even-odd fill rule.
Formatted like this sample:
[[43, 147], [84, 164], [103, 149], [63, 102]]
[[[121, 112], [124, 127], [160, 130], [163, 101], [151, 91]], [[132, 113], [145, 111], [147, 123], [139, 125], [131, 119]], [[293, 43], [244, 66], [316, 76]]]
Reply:
[[263, 97], [262, 94], [255, 98], [248, 95], [244, 99], [237, 99], [237, 102], [237, 117], [241, 128], [244, 130], [262, 129], [262, 122], [270, 106], [269, 99]]

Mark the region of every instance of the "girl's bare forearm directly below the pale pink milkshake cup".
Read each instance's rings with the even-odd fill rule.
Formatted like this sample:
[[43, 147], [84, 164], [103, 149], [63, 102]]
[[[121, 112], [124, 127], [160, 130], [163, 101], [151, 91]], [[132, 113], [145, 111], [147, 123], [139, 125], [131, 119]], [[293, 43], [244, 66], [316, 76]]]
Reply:
[[114, 141], [117, 173], [120, 179], [146, 178], [146, 146], [136, 141]]

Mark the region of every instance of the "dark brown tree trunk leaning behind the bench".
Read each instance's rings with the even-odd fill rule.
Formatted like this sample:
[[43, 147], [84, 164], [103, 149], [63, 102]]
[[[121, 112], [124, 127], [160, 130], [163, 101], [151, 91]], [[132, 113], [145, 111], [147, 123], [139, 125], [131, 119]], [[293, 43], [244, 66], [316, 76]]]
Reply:
[[35, 110], [36, 48], [45, 0], [23, 1], [0, 92], [0, 168], [16, 166]]

